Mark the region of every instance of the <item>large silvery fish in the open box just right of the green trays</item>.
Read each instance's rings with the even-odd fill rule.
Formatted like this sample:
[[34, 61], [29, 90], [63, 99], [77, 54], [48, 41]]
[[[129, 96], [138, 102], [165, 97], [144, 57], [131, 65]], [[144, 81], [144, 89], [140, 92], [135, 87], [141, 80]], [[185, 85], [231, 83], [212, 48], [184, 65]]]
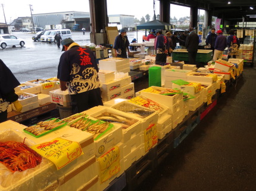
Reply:
[[104, 112], [102, 114], [99, 114], [99, 116], [95, 117], [96, 119], [103, 120], [104, 122], [110, 122], [114, 125], [120, 125], [122, 129], [127, 129], [134, 123], [138, 122], [136, 119], [132, 119], [129, 117], [124, 117], [119, 114], [110, 113], [110, 112]]

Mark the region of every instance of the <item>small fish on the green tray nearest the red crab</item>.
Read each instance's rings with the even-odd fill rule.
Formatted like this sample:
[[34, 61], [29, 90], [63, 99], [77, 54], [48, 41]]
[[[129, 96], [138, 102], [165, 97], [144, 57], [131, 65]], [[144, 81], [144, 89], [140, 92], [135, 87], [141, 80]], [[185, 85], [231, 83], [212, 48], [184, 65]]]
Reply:
[[46, 120], [44, 122], [39, 122], [36, 125], [29, 126], [24, 130], [32, 133], [35, 136], [39, 136], [45, 132], [48, 132], [49, 130], [60, 127], [63, 124], [64, 122], [60, 119], [51, 119], [51, 120]]

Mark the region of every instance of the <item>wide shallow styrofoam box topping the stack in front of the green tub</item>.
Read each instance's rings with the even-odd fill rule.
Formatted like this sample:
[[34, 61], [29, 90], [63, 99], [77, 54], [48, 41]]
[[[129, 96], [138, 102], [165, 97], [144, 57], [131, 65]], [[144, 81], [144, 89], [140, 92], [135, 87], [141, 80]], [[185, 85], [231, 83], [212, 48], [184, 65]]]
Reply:
[[[198, 75], [205, 75], [205, 76], [198, 76]], [[188, 81], [213, 83], [217, 81], [217, 75], [192, 72], [191, 74], [188, 75]]]

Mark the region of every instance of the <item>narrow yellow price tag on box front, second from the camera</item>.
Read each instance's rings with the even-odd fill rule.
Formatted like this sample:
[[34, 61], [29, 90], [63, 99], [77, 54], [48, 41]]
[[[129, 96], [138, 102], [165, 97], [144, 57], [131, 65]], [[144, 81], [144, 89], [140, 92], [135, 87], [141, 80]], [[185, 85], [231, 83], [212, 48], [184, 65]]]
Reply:
[[144, 139], [146, 152], [157, 144], [157, 126], [155, 124], [149, 125], [149, 127], [144, 130]]

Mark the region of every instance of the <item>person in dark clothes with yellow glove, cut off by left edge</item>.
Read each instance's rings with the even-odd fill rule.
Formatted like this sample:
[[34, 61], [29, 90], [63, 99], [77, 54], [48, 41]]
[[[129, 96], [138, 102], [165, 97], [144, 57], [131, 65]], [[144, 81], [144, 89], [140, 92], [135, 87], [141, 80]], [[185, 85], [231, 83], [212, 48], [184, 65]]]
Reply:
[[22, 106], [18, 101], [18, 95], [14, 88], [20, 85], [20, 82], [14, 77], [10, 69], [0, 59], [0, 123], [7, 120], [7, 108], [9, 103], [13, 103], [17, 112], [20, 112]]

